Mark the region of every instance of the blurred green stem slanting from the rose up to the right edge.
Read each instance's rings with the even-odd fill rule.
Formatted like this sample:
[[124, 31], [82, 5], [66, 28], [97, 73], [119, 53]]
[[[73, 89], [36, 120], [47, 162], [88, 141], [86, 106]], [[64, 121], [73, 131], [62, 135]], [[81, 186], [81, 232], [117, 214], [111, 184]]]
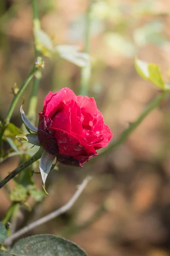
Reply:
[[149, 105], [147, 105], [144, 110], [142, 111], [142, 113], [140, 114], [140, 116], [138, 117], [138, 119], [136, 119], [135, 122], [131, 123], [129, 125], [129, 127], [122, 132], [122, 134], [120, 134], [120, 136], [110, 145], [108, 145], [108, 147], [102, 151], [99, 157], [102, 157], [105, 154], [110, 153], [111, 151], [113, 151], [116, 147], [118, 147], [120, 144], [124, 143], [124, 141], [127, 139], [127, 137], [138, 127], [138, 125], [141, 124], [141, 122], [144, 120], [144, 118], [151, 112], [153, 111], [153, 109], [155, 109], [156, 107], [158, 107], [161, 102], [163, 102], [165, 99], [167, 99], [167, 97], [170, 96], [170, 91], [164, 91], [162, 92], [159, 96], [157, 96], [152, 102], [150, 102]]

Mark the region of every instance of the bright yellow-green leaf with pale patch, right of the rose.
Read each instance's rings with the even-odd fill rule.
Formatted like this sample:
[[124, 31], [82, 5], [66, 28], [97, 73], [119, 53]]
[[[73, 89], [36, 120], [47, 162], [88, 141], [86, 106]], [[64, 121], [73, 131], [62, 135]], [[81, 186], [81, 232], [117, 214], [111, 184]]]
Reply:
[[162, 78], [161, 71], [158, 65], [147, 63], [136, 58], [135, 60], [136, 71], [139, 75], [155, 84], [161, 90], [166, 90], [165, 82]]

